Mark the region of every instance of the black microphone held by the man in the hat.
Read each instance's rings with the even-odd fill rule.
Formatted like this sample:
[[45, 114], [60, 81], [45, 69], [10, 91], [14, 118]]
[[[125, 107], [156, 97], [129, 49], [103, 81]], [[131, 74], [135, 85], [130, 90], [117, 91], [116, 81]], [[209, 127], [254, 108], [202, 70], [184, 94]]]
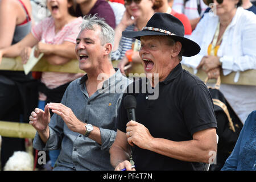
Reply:
[[128, 121], [131, 121], [131, 120], [136, 121], [136, 118], [135, 118], [136, 105], [137, 105], [136, 98], [132, 95], [127, 95], [123, 99], [123, 107], [125, 107], [127, 111]]

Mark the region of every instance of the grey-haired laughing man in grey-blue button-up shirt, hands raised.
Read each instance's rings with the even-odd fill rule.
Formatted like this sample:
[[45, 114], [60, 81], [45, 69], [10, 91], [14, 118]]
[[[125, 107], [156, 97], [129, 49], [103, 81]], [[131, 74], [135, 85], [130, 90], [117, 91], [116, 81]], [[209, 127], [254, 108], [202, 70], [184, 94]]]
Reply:
[[69, 84], [61, 103], [31, 113], [30, 124], [37, 130], [34, 148], [61, 149], [53, 170], [113, 170], [109, 148], [122, 91], [131, 82], [112, 66], [113, 40], [114, 31], [104, 20], [84, 18], [75, 51], [87, 74]]

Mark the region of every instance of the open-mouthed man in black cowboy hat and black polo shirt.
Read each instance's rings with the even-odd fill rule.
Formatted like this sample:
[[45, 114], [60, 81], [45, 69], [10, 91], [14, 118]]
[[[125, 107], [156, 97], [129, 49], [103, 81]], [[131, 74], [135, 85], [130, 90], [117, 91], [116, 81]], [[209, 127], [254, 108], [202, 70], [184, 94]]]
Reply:
[[[137, 100], [136, 121], [128, 121], [122, 99], [117, 137], [110, 148], [112, 165], [131, 170], [132, 152], [137, 170], [203, 170], [203, 163], [212, 162], [217, 151], [213, 102], [204, 82], [180, 64], [182, 55], [196, 55], [200, 47], [184, 38], [177, 18], [165, 13], [155, 13], [142, 31], [123, 36], [141, 40], [139, 55], [148, 81], [127, 88]], [[150, 99], [148, 84], [158, 98]]]

